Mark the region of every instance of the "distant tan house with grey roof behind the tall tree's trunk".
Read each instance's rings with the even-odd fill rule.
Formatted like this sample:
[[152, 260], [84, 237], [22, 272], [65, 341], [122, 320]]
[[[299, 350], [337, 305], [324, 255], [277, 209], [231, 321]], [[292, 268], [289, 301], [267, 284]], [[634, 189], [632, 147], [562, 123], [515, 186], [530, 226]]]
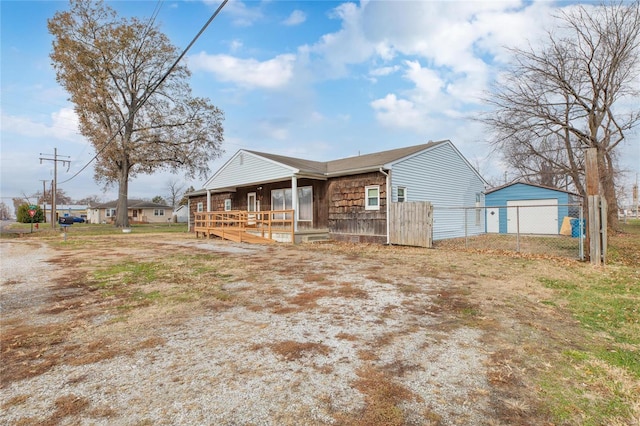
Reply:
[[[87, 209], [89, 223], [113, 223], [118, 201], [96, 204]], [[167, 223], [172, 220], [173, 208], [143, 200], [128, 200], [129, 223]]]

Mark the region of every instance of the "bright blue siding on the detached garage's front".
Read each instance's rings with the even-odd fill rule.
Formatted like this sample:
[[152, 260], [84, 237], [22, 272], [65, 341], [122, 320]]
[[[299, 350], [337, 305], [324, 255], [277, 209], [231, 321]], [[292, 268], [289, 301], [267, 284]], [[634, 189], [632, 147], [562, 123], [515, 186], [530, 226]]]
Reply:
[[[528, 185], [526, 183], [515, 183], [497, 191], [485, 195], [485, 205], [487, 207], [503, 207], [508, 201], [519, 200], [558, 200], [558, 232], [562, 226], [562, 220], [569, 215], [567, 204], [571, 202], [569, 194], [563, 191], [556, 191], [549, 188]], [[507, 209], [499, 209], [499, 232], [507, 233]]]

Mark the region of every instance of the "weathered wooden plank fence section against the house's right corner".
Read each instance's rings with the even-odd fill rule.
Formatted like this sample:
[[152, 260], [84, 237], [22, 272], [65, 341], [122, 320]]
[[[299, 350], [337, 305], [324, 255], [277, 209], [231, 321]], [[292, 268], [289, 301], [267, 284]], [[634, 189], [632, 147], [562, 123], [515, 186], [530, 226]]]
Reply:
[[427, 201], [391, 203], [389, 242], [403, 246], [433, 246], [433, 206]]

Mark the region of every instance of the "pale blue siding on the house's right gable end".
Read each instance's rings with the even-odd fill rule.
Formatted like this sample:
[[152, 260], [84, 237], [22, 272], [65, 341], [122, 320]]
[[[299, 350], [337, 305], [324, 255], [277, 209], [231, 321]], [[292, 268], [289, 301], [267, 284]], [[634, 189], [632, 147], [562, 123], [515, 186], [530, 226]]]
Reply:
[[[394, 202], [398, 186], [403, 186], [407, 188], [407, 201], [429, 201], [434, 206], [434, 240], [463, 237], [465, 211], [460, 207], [475, 206], [476, 194], [485, 191], [484, 181], [450, 142], [394, 163], [391, 179]], [[481, 196], [480, 206], [483, 205]], [[481, 215], [476, 224], [475, 210], [468, 210], [468, 235], [483, 233], [484, 220]]]

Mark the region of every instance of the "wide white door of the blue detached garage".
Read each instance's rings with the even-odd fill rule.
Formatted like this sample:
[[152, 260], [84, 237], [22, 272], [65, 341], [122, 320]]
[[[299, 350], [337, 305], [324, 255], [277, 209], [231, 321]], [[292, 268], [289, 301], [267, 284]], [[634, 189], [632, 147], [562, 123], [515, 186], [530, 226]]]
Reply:
[[[515, 234], [520, 225], [521, 234], [557, 234], [558, 200], [507, 201], [507, 232]], [[515, 206], [521, 206], [516, 209]]]

